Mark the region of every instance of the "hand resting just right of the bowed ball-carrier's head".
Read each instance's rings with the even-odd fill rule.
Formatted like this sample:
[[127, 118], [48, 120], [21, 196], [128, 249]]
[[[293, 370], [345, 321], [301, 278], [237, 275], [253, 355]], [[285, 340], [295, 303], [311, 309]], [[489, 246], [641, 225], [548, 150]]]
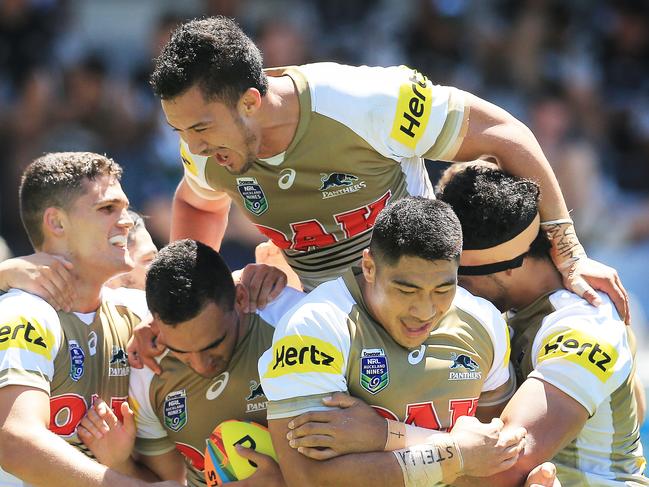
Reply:
[[248, 290], [248, 305], [243, 311], [254, 313], [280, 295], [286, 287], [286, 274], [272, 265], [248, 264], [239, 282]]

